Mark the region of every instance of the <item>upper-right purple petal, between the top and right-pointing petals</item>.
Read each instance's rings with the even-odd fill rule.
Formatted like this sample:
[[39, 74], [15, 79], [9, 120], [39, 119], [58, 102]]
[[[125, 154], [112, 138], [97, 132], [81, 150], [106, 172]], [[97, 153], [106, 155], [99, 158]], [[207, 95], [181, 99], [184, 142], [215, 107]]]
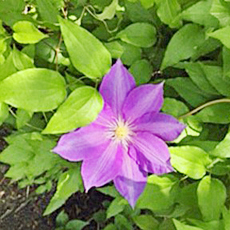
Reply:
[[133, 89], [123, 106], [125, 118], [134, 121], [145, 113], [159, 112], [163, 103], [163, 83]]

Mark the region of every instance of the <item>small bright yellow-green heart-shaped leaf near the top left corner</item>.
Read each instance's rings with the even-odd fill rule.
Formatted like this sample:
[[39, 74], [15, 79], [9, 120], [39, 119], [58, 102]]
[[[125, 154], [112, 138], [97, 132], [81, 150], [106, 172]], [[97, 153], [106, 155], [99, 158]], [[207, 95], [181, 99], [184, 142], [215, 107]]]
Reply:
[[13, 38], [22, 44], [35, 44], [48, 37], [40, 32], [33, 23], [29, 21], [19, 21], [13, 26]]

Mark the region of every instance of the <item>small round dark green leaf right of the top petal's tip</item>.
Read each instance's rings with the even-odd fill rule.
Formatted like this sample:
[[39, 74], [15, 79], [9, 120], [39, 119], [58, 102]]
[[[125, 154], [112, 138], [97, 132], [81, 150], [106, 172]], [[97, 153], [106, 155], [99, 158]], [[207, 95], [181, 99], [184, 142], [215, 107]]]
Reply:
[[152, 76], [153, 67], [147, 60], [141, 59], [131, 65], [129, 72], [133, 75], [136, 84], [141, 85], [149, 82]]

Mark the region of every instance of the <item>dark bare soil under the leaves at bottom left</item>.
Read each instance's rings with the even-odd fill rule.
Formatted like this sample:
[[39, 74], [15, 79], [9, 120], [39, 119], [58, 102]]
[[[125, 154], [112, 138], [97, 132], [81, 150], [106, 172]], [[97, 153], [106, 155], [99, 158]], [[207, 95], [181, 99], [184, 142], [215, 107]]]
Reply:
[[[6, 146], [3, 136], [6, 133], [0, 129], [0, 152]], [[16, 183], [4, 178], [8, 166], [0, 164], [0, 230], [55, 230], [55, 219], [61, 210], [70, 219], [90, 220], [93, 213], [102, 209], [102, 202], [110, 199], [92, 189], [88, 194], [76, 193], [65, 205], [49, 216], [42, 216], [55, 189], [51, 192], [34, 196], [34, 188], [19, 189]], [[84, 230], [99, 229], [92, 220]]]

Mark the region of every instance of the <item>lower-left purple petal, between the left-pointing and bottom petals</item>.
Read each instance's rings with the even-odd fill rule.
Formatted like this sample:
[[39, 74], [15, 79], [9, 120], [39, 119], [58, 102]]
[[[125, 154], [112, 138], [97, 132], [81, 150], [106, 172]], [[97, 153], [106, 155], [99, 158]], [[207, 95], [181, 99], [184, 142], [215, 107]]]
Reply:
[[100, 187], [117, 176], [123, 154], [122, 146], [111, 141], [99, 157], [83, 161], [81, 175], [86, 192], [91, 187]]

